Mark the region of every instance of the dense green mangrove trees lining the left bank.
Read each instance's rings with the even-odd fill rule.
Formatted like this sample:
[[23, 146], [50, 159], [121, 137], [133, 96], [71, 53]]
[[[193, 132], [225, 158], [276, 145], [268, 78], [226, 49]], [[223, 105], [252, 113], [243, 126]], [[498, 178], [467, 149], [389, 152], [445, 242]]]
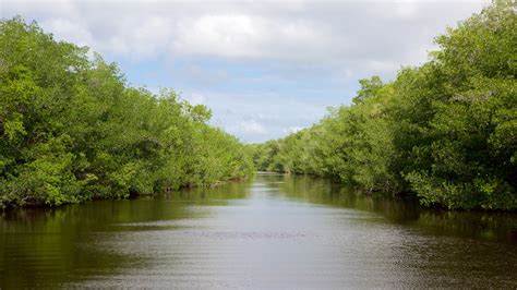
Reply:
[[20, 17], [0, 23], [0, 208], [119, 198], [253, 172], [211, 112]]

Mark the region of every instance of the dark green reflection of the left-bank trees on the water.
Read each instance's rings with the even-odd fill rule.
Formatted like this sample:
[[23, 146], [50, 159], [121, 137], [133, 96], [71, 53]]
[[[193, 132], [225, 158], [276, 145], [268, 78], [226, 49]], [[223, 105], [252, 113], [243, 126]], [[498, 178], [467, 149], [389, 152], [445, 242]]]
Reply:
[[0, 216], [0, 288], [51, 287], [144, 266], [145, 256], [116, 249], [113, 241], [124, 238], [116, 232], [185, 227], [172, 221], [200, 218], [204, 213], [192, 205], [226, 205], [245, 198], [249, 182], [229, 183], [156, 200], [97, 201], [5, 213]]

